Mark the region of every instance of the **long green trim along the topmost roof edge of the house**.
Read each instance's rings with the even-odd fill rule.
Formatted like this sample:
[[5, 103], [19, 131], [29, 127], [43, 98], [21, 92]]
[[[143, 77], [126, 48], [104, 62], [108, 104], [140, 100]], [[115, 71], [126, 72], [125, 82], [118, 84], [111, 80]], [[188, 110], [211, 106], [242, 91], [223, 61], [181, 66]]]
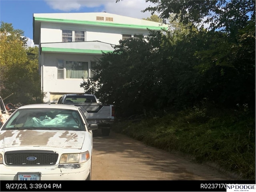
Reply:
[[72, 23], [72, 24], [84, 24], [84, 25], [96, 25], [105, 27], [122, 27], [122, 28], [137, 28], [137, 29], [150, 29], [150, 30], [167, 30], [168, 27], [163, 26], [145, 26], [145, 25], [134, 25], [134, 24], [120, 24], [110, 22], [98, 22], [98, 21], [80, 21], [80, 20], [68, 20], [68, 19], [53, 19], [53, 18], [41, 18], [34, 17], [35, 21], [46, 21], [46, 22], [59, 22], [59, 23]]

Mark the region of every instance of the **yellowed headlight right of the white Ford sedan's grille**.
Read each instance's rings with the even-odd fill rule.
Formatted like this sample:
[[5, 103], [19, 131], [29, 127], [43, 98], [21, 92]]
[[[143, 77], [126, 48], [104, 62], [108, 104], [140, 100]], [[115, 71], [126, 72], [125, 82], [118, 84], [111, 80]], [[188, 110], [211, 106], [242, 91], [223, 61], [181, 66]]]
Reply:
[[60, 157], [60, 163], [84, 163], [90, 159], [88, 151], [84, 153], [66, 153]]

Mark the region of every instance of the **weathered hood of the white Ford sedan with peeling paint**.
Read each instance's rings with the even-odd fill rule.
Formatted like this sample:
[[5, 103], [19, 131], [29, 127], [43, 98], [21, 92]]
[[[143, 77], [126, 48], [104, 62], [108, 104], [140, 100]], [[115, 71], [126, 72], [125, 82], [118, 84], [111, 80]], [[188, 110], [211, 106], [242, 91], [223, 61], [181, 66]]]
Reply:
[[67, 130], [2, 130], [0, 148], [47, 146], [81, 149], [85, 131]]

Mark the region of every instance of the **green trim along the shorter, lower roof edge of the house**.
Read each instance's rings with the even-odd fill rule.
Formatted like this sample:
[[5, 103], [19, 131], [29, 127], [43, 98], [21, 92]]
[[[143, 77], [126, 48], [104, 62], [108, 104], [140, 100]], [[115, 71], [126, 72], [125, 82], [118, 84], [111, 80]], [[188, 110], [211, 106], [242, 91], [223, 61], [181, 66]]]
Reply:
[[52, 47], [42, 47], [41, 49], [42, 51], [48, 51], [48, 52], [71, 52], [71, 53], [92, 53], [92, 54], [102, 54], [102, 52], [112, 52], [112, 51], [106, 51], [106, 50], [52, 48]]

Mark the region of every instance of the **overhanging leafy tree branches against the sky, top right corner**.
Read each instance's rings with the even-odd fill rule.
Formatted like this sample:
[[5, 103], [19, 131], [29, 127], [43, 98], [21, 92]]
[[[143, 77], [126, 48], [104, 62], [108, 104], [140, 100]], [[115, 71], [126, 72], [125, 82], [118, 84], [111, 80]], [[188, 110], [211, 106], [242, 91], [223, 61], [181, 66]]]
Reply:
[[255, 22], [254, 0], [146, 0], [156, 6], [150, 6], [142, 12], [150, 11], [159, 13], [159, 18], [164, 22], [170, 14], [175, 14], [174, 19], [180, 18], [185, 25], [192, 23], [195, 26], [209, 25], [210, 30], [223, 30], [236, 34], [245, 27], [249, 20]]

